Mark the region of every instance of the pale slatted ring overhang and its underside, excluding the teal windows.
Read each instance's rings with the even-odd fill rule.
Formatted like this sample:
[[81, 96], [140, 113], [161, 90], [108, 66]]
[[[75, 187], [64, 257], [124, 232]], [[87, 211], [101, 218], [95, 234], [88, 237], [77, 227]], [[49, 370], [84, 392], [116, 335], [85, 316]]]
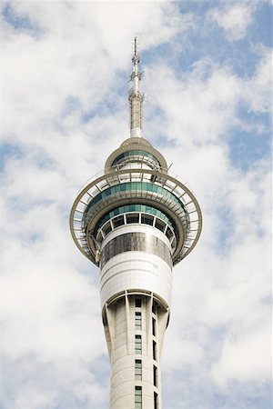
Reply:
[[[153, 183], [151, 178], [154, 180]], [[106, 192], [106, 189], [134, 182], [156, 185], [164, 189], [168, 195], [148, 193], [146, 190], [133, 192], [130, 189], [125, 195], [107, 195], [101, 203], [98, 201], [94, 212], [88, 214], [88, 206], [90, 208], [96, 196]], [[128, 203], [156, 204], [159, 210], [169, 215], [175, 222], [177, 246], [172, 254], [173, 264], [185, 258], [197, 244], [202, 229], [202, 214], [196, 197], [187, 185], [177, 177], [152, 169], [116, 169], [88, 181], [77, 195], [71, 209], [70, 230], [73, 239], [79, 250], [96, 265], [97, 244], [93, 233], [97, 222], [115, 206]]]

